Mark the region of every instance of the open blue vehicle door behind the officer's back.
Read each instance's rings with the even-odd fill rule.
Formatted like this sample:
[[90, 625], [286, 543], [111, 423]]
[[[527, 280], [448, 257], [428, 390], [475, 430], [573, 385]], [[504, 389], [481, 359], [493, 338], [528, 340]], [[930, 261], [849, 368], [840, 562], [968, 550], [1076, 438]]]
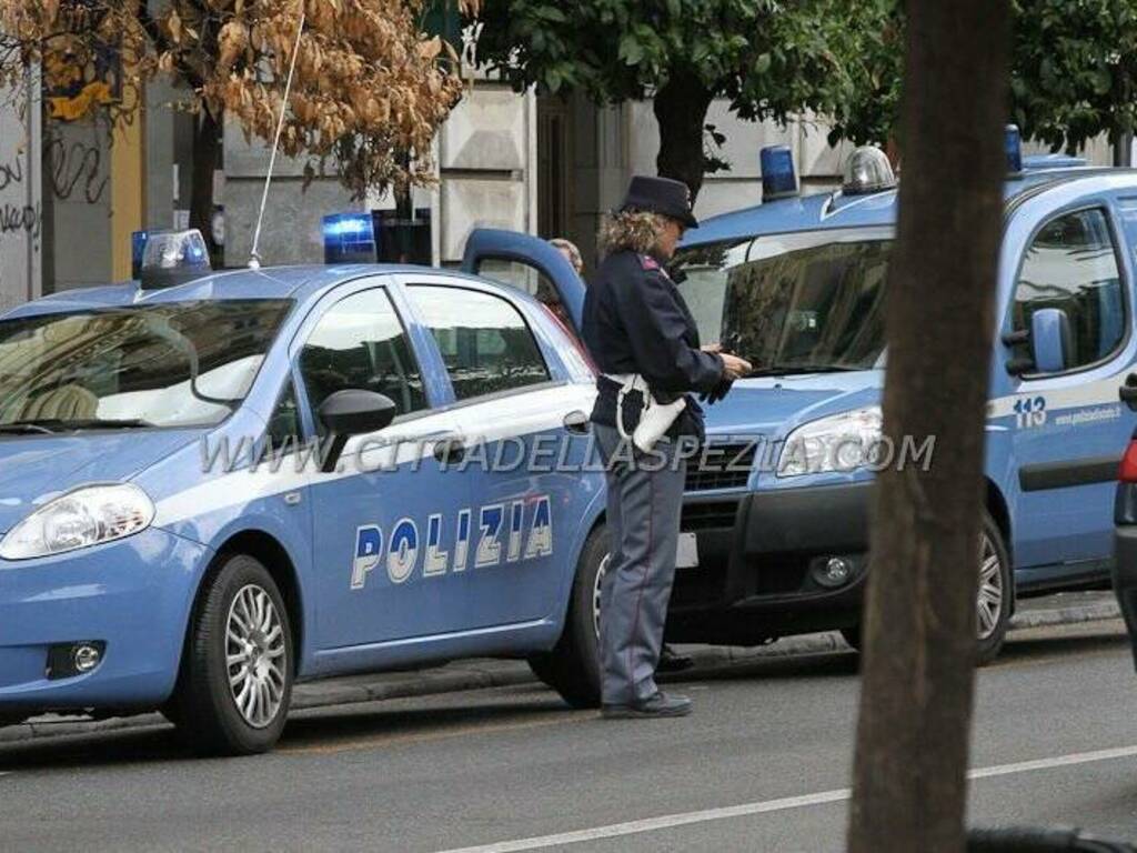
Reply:
[[462, 270], [525, 291], [580, 334], [584, 282], [545, 240], [517, 231], [476, 229], [466, 242]]

